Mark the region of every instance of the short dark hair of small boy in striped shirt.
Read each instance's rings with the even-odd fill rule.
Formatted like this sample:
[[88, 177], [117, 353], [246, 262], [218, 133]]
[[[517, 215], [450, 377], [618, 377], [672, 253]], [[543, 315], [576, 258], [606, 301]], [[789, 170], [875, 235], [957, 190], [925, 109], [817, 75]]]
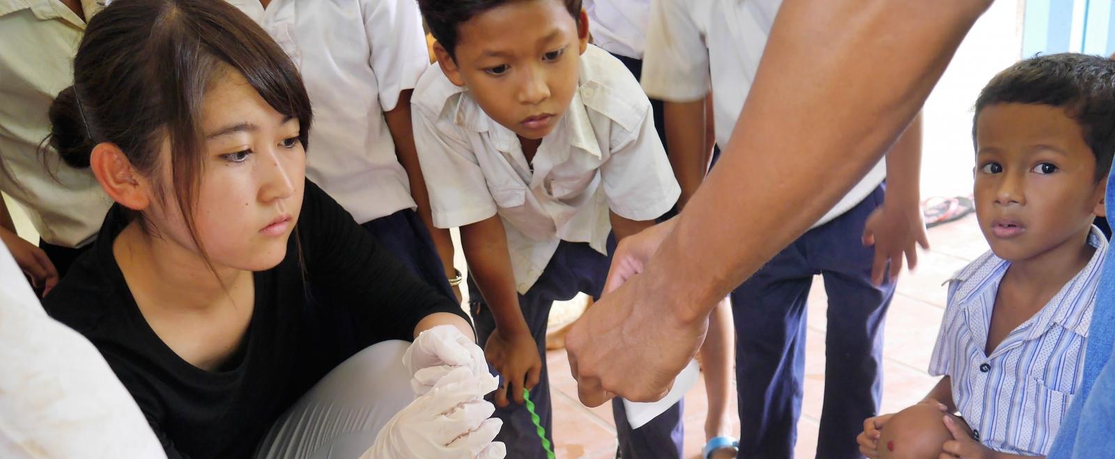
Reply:
[[1080, 125], [1096, 156], [1096, 180], [1107, 176], [1115, 154], [1115, 60], [1076, 52], [1035, 56], [991, 78], [976, 99], [976, 121], [993, 104], [1039, 104], [1064, 108]]

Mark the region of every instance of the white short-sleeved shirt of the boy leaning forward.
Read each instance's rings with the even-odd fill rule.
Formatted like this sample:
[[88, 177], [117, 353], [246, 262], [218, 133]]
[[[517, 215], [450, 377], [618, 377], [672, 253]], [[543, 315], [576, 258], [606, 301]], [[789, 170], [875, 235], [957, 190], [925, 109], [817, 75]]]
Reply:
[[609, 209], [655, 219], [681, 194], [647, 95], [619, 59], [591, 45], [570, 108], [542, 139], [533, 172], [515, 134], [437, 65], [418, 81], [411, 105], [434, 225], [498, 213], [520, 293], [542, 275], [560, 241], [605, 254]]

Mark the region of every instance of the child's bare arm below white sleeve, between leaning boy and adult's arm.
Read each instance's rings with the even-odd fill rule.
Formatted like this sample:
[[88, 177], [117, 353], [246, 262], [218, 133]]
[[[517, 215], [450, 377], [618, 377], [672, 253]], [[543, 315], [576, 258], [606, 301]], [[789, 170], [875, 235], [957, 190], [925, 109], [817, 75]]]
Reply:
[[669, 150], [673, 176], [681, 186], [678, 206], [683, 207], [705, 179], [709, 148], [705, 144], [705, 99], [663, 104], [666, 146]]

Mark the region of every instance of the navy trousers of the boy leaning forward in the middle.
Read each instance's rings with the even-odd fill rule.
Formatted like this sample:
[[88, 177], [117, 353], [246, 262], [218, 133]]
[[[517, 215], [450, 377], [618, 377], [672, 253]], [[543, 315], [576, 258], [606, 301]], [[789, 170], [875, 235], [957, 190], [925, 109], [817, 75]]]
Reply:
[[[553, 445], [553, 410], [545, 352], [550, 307], [554, 301], [572, 300], [578, 292], [599, 299], [612, 262], [611, 253], [614, 250], [614, 236], [608, 237], [609, 255], [607, 256], [586, 243], [562, 241], [542, 272], [542, 276], [531, 286], [531, 290], [518, 295], [518, 305], [523, 310], [523, 318], [537, 344], [539, 354], [542, 355], [542, 374], [539, 384], [531, 390], [531, 401], [534, 402], [535, 412], [541, 418], [551, 445]], [[476, 333], [483, 346], [495, 330], [495, 320], [492, 316], [492, 311], [484, 304], [483, 296], [472, 279], [468, 280], [468, 295], [473, 321], [476, 323]], [[494, 369], [492, 369], [492, 374], [498, 375]], [[491, 395], [488, 398], [491, 399]], [[612, 400], [612, 416], [619, 437], [618, 457], [623, 459], [681, 458], [683, 437], [681, 410], [681, 402], [678, 402], [647, 424], [631, 429], [627, 422], [623, 402], [620, 399]], [[542, 449], [542, 441], [525, 407], [512, 401], [506, 408], [497, 407], [495, 417], [503, 420], [503, 429], [500, 430], [500, 434], [495, 439], [507, 446], [508, 458], [546, 457]], [[559, 429], [561, 428], [560, 426]]]

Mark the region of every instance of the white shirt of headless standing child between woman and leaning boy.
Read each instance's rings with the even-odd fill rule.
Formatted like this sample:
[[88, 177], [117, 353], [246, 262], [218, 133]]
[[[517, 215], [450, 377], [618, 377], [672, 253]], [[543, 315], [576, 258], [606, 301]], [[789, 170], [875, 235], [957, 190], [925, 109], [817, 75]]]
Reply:
[[306, 175], [357, 223], [415, 208], [385, 111], [413, 89], [429, 52], [414, 0], [230, 0], [302, 72], [313, 128]]

